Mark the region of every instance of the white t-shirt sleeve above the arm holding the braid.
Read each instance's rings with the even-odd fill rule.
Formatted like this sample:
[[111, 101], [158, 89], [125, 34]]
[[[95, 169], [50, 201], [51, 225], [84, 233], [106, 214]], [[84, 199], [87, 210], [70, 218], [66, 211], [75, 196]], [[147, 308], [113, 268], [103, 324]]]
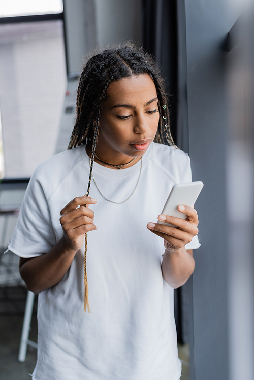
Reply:
[[[41, 170], [39, 170], [40, 174]], [[8, 249], [21, 257], [35, 257], [56, 244], [48, 202], [38, 169], [31, 177]]]

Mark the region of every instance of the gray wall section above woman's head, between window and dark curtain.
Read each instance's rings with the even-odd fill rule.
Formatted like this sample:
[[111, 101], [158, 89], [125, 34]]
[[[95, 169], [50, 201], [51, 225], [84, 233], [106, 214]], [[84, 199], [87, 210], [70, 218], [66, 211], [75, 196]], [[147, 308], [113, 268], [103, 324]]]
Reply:
[[141, 0], [64, 0], [69, 73], [79, 73], [82, 57], [96, 45], [141, 42]]

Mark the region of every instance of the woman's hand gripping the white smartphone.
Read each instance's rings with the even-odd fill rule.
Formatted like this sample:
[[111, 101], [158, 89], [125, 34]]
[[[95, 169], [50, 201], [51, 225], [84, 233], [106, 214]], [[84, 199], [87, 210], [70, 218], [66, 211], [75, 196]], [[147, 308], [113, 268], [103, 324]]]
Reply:
[[177, 251], [192, 241], [198, 230], [197, 211], [189, 206], [179, 205], [178, 210], [187, 215], [187, 219], [172, 217], [169, 215], [159, 215], [158, 220], [174, 225], [175, 227], [165, 226], [159, 223], [148, 223], [147, 228], [156, 235], [164, 239], [165, 248], [168, 251]]

